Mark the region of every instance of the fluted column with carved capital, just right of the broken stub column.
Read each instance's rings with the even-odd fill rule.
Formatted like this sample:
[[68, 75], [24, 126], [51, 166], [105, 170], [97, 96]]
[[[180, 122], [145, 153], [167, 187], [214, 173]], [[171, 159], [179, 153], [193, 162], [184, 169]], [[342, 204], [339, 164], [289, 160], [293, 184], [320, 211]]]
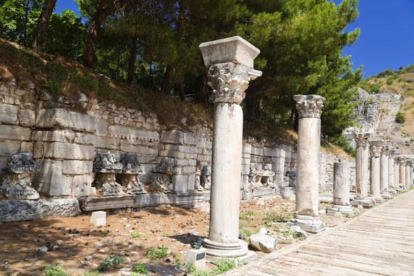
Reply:
[[355, 135], [357, 154], [355, 157], [355, 186], [356, 197], [351, 204], [353, 206], [362, 205], [365, 208], [373, 206], [373, 198], [368, 197], [368, 140], [369, 135], [359, 133]]

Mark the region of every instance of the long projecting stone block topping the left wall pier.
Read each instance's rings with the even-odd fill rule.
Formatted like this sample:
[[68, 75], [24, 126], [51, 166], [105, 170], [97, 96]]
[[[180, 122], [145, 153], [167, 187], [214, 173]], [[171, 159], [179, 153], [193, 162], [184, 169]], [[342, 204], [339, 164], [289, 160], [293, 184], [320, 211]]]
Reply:
[[95, 117], [59, 108], [41, 109], [37, 112], [36, 126], [39, 128], [67, 128], [95, 132]]

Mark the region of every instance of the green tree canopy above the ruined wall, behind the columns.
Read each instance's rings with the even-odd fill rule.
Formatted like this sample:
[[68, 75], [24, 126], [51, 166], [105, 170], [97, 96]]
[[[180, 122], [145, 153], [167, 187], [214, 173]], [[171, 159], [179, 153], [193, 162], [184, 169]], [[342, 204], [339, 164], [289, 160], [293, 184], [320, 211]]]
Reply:
[[[60, 0], [59, 0], [60, 1]], [[57, 3], [59, 4], [59, 1]], [[32, 41], [43, 1], [31, 0]], [[74, 58], [80, 30], [83, 64], [128, 85], [144, 86], [208, 103], [199, 44], [233, 35], [261, 50], [244, 104], [248, 121], [295, 125], [295, 94], [326, 97], [322, 132], [337, 137], [353, 124], [353, 70], [342, 49], [357, 40], [346, 31], [358, 16], [358, 0], [76, 0], [83, 23], [71, 11], [52, 14], [43, 51]], [[25, 0], [0, 0], [0, 36], [21, 43]], [[30, 45], [30, 42], [28, 43]], [[118, 64], [119, 57], [119, 64]], [[79, 59], [80, 61], [81, 59]], [[119, 70], [117, 71], [117, 68]]]

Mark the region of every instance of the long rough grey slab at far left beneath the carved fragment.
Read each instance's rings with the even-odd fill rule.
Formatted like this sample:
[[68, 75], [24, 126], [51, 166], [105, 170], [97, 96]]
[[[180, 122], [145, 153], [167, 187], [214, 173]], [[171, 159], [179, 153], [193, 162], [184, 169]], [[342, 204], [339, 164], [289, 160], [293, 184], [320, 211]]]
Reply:
[[79, 201], [75, 198], [0, 201], [0, 223], [80, 214]]

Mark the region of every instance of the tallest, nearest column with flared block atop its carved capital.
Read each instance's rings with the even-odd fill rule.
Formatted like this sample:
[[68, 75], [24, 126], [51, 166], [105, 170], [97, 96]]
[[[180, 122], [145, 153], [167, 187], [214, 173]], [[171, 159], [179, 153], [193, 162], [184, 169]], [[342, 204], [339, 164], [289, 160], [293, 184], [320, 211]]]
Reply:
[[211, 166], [210, 230], [207, 255], [242, 257], [247, 244], [239, 237], [240, 175], [242, 173], [242, 103], [248, 82], [262, 75], [253, 69], [257, 49], [242, 37], [199, 46], [213, 88], [213, 162]]

